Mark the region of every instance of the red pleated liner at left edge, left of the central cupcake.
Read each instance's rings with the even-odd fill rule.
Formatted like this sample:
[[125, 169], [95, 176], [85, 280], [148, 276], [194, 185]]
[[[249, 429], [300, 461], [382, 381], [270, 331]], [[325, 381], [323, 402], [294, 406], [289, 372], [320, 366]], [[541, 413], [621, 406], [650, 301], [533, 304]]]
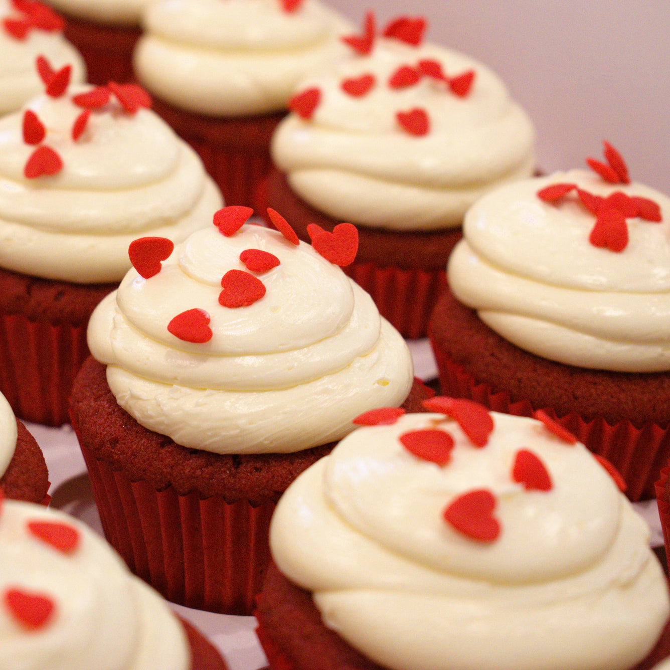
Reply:
[[25, 421], [70, 421], [72, 382], [88, 356], [86, 324], [31, 321], [0, 314], [0, 392]]

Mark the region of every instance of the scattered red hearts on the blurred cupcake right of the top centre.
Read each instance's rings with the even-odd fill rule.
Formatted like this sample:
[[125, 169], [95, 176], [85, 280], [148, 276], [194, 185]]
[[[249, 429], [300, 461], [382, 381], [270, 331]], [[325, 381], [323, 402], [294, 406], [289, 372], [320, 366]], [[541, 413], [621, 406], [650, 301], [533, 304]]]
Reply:
[[[423, 31], [425, 30], [425, 19], [422, 17], [411, 18], [401, 16], [394, 19], [382, 31], [386, 38], [393, 38], [410, 44], [419, 46], [423, 40]], [[366, 56], [371, 53], [375, 44], [375, 15], [372, 12], [366, 14], [362, 35], [352, 35], [342, 38], [356, 54]], [[415, 63], [401, 65], [386, 82], [389, 88], [401, 90], [415, 86], [424, 78], [428, 78], [435, 85], [444, 90], [449, 90], [453, 94], [464, 98], [472, 88], [474, 81], [474, 70], [462, 72], [457, 76], [447, 76], [442, 68], [442, 64], [437, 60], [425, 59]], [[358, 77], [348, 78], [342, 81], [341, 87], [344, 92], [354, 98], [360, 98], [368, 94], [377, 85], [374, 74], [364, 72]], [[289, 109], [295, 112], [302, 119], [309, 120], [314, 115], [314, 111], [321, 101], [321, 90], [319, 88], [308, 88], [301, 91], [289, 101]], [[430, 129], [430, 119], [425, 109], [415, 107], [413, 109], [397, 111], [395, 118], [399, 127], [409, 133], [409, 135], [426, 135]]]

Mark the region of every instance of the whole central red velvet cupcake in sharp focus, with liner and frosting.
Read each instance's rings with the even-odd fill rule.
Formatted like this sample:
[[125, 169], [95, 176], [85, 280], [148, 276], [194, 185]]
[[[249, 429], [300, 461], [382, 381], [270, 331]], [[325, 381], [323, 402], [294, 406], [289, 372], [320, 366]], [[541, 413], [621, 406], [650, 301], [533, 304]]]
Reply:
[[158, 265], [147, 243], [150, 269], [136, 262], [90, 320], [71, 399], [110, 543], [168, 600], [230, 614], [253, 607], [293, 478], [362, 411], [426, 397], [336, 264], [354, 226], [312, 247], [249, 214], [220, 210]]

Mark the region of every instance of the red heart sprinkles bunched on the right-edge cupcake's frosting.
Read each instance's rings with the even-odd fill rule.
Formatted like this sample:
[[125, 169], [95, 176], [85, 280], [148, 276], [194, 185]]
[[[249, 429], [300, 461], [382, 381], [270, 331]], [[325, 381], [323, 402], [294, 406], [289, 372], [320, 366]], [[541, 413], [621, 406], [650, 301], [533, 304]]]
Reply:
[[[609, 184], [630, 184], [628, 167], [621, 154], [608, 142], [604, 142], [606, 163], [595, 158], [586, 159], [586, 163]], [[594, 247], [609, 249], [620, 253], [628, 246], [627, 218], [634, 216], [642, 220], [658, 223], [661, 221], [661, 208], [649, 198], [628, 196], [618, 190], [606, 198], [596, 196], [577, 186], [577, 184], [551, 184], [537, 192], [545, 202], [557, 203], [567, 194], [576, 192], [579, 202], [596, 217], [589, 242]]]

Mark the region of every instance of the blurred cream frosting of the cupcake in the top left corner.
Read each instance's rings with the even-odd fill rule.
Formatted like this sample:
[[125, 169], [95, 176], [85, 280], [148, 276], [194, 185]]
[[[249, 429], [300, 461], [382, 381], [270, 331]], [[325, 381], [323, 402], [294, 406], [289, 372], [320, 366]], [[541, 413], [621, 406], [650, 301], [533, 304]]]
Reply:
[[[11, 0], [0, 0], [0, 21], [23, 18], [25, 15]], [[40, 55], [46, 56], [56, 69], [71, 64], [74, 82], [86, 79], [84, 60], [62, 31], [31, 28], [19, 38], [0, 24], [0, 115], [16, 111], [42, 90], [35, 70], [35, 60]]]

